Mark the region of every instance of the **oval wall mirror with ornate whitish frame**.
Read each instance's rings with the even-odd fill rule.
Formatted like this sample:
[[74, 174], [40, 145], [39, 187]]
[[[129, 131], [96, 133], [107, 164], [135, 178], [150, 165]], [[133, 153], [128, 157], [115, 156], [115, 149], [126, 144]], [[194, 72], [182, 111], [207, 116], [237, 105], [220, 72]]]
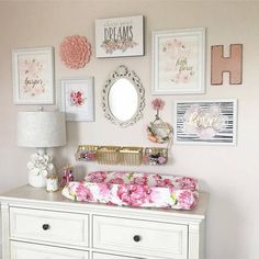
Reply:
[[144, 88], [139, 78], [125, 66], [120, 66], [103, 89], [105, 117], [121, 126], [128, 126], [142, 117], [145, 106]]

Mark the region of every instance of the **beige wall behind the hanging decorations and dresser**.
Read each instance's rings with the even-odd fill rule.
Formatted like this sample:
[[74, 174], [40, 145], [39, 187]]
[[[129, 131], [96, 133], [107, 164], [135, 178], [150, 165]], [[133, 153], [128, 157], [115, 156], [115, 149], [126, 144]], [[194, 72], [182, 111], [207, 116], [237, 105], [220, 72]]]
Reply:
[[[15, 119], [21, 110], [12, 100], [11, 50], [15, 47], [55, 47], [56, 88], [65, 77], [94, 77], [95, 122], [68, 123], [68, 146], [56, 153], [58, 168], [77, 166], [78, 174], [93, 169], [119, 169], [97, 164], [76, 164], [78, 144], [151, 146], [145, 127], [154, 120], [150, 109], [151, 31], [206, 27], [206, 94], [167, 95], [164, 120], [173, 121], [176, 99], [238, 99], [238, 144], [224, 146], [173, 145], [165, 167], [140, 167], [142, 171], [184, 174], [200, 180], [211, 193], [206, 227], [206, 259], [258, 259], [259, 233], [259, 2], [173, 0], [0, 1], [0, 192], [26, 183], [26, 161], [32, 149], [15, 145]], [[58, 45], [67, 35], [85, 35], [94, 48], [94, 20], [143, 14], [146, 19], [146, 55], [114, 59], [92, 56], [83, 69], [60, 64]], [[210, 47], [244, 44], [244, 85], [210, 85]], [[146, 90], [144, 119], [122, 130], [103, 116], [101, 90], [108, 75], [124, 64], [140, 77]], [[49, 108], [47, 108], [49, 109]], [[54, 150], [52, 150], [54, 151]], [[55, 150], [56, 151], [56, 150]], [[121, 168], [120, 168], [121, 169]], [[136, 169], [136, 168], [133, 168]], [[79, 176], [78, 176], [79, 178]]]

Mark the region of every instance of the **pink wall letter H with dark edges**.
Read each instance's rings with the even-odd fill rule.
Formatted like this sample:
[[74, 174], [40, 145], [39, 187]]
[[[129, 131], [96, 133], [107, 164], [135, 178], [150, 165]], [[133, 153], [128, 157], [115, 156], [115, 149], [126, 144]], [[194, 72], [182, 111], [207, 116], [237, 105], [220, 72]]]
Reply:
[[224, 46], [215, 45], [211, 49], [211, 85], [223, 85], [223, 74], [229, 74], [229, 85], [241, 85], [243, 44], [232, 44], [229, 56], [224, 57]]

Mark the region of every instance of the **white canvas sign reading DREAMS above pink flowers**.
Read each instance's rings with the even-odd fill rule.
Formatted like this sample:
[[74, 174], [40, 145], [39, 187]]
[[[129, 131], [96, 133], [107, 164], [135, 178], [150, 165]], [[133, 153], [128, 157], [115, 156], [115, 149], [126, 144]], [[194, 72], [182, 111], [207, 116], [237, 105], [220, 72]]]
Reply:
[[95, 20], [95, 56], [144, 55], [144, 16]]

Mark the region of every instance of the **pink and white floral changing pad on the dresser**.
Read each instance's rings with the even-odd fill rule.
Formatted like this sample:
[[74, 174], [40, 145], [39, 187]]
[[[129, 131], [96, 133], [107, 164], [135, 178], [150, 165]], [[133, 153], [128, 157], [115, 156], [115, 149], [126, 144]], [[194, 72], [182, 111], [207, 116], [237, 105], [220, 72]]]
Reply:
[[198, 181], [188, 177], [143, 172], [94, 171], [69, 182], [63, 195], [110, 205], [191, 210], [198, 203]]

